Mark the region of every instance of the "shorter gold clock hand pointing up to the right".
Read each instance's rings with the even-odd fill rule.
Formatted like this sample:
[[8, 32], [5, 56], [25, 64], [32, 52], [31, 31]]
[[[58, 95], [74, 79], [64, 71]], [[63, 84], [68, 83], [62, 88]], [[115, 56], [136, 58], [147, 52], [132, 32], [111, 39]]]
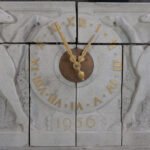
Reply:
[[78, 61], [81, 63], [85, 60], [85, 55], [87, 54], [88, 52], [88, 49], [91, 47], [91, 44], [97, 39], [97, 36], [98, 36], [98, 32], [100, 30], [100, 24], [97, 26], [94, 34], [91, 36], [88, 44], [85, 46], [85, 48], [83, 49], [82, 51], [82, 54], [78, 57]]

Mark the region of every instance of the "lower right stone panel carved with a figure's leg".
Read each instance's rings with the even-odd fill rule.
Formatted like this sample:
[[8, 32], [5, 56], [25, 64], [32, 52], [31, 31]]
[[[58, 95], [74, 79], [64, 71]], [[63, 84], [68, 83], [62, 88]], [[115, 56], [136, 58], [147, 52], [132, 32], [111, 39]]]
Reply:
[[125, 46], [124, 50], [127, 61], [124, 64], [123, 81], [123, 144], [150, 145], [150, 49], [149, 46], [141, 45]]

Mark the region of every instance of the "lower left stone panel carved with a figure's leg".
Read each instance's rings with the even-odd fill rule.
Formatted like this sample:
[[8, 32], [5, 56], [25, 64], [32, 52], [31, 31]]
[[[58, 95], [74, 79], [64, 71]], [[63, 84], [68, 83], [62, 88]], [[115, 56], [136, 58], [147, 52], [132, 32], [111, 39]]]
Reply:
[[0, 146], [28, 145], [28, 50], [0, 44]]

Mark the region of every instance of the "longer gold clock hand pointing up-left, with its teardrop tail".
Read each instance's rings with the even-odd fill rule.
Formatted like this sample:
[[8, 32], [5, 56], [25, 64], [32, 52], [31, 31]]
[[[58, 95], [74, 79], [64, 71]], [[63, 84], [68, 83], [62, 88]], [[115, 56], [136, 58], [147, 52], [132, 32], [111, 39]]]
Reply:
[[69, 60], [73, 63], [73, 68], [76, 71], [78, 71], [79, 79], [84, 80], [84, 72], [81, 71], [81, 64], [76, 60], [76, 56], [72, 53], [71, 49], [69, 48], [69, 44], [67, 43], [67, 40], [66, 40], [64, 34], [61, 32], [61, 27], [57, 22], [55, 23], [55, 27], [61, 37], [61, 40], [64, 43], [64, 47], [65, 47], [67, 53], [69, 54], [69, 57], [70, 57]]

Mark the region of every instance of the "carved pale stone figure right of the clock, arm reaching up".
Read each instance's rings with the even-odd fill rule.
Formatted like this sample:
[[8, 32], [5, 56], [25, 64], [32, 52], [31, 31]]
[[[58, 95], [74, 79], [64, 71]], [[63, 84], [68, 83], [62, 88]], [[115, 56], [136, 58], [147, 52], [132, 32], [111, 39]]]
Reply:
[[[148, 16], [149, 15], [141, 16], [140, 20], [144, 23], [148, 23], [149, 22]], [[126, 33], [126, 35], [128, 36], [129, 40], [132, 43], [142, 43], [142, 41], [139, 38], [138, 32], [123, 17], [116, 18], [116, 24], [122, 28], [122, 30]], [[143, 33], [143, 35], [145, 35], [145, 33]], [[147, 41], [148, 40], [149, 39], [147, 39]], [[140, 123], [142, 124], [143, 117], [140, 117], [139, 114], [136, 115], [136, 112], [140, 105], [141, 107], [144, 107], [146, 106], [144, 103], [148, 104], [148, 102], [146, 102], [147, 101], [146, 98], [148, 98], [149, 96], [148, 81], [149, 81], [150, 71], [148, 69], [149, 68], [148, 65], [150, 63], [149, 62], [150, 48], [149, 46], [148, 47], [131, 46], [130, 50], [131, 50], [130, 51], [131, 65], [132, 65], [132, 69], [134, 70], [137, 83], [132, 95], [132, 100], [128, 112], [125, 115], [125, 119], [124, 119], [125, 128], [127, 127], [127, 125], [131, 125], [131, 124], [134, 125], [137, 121], [140, 121]], [[146, 107], [143, 109], [144, 109], [143, 111], [146, 112], [145, 110]], [[146, 116], [148, 117], [149, 115], [147, 114]]]

